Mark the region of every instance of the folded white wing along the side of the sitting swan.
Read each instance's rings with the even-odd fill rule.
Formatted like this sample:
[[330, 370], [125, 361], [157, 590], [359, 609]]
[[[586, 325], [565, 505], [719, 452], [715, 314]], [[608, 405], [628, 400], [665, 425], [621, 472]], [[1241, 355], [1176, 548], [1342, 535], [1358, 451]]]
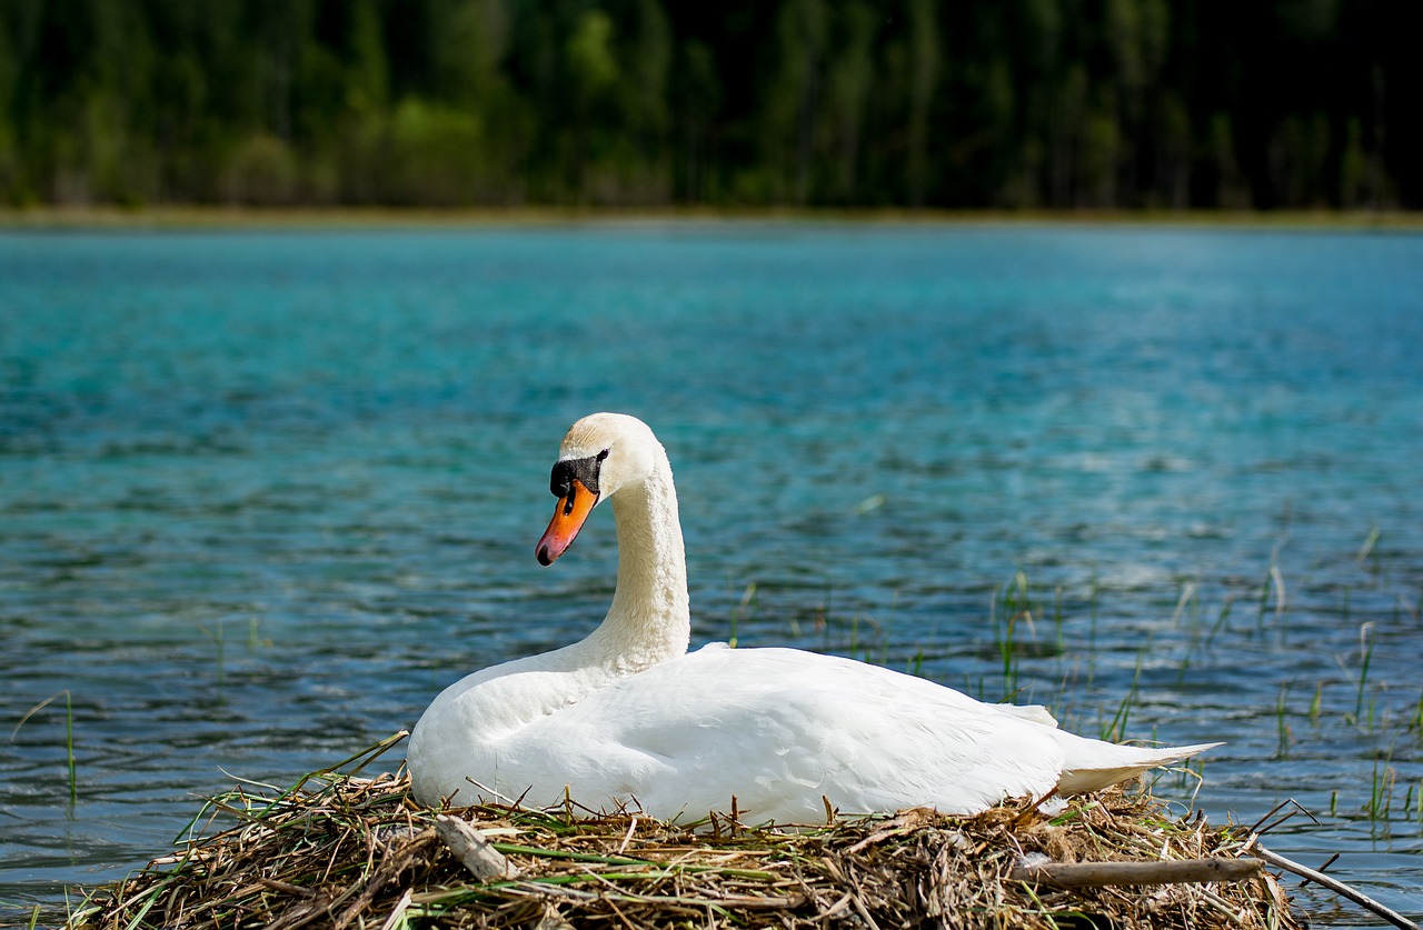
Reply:
[[[798, 650], [706, 648], [527, 727], [501, 749], [538, 792], [635, 798], [657, 816], [817, 822], [933, 805], [975, 812], [1057, 784], [1046, 712], [1000, 710], [877, 666]], [[531, 801], [545, 801], [531, 796]]]

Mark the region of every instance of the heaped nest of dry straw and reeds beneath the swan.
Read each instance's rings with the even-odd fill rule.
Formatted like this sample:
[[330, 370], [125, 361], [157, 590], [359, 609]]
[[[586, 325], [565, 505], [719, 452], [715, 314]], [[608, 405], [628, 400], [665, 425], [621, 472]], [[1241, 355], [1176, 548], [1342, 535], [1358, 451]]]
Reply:
[[[359, 771], [401, 735], [347, 764]], [[1244, 832], [1137, 791], [1076, 798], [1050, 818], [1026, 803], [970, 818], [915, 809], [780, 832], [572, 802], [435, 812], [404, 774], [337, 768], [212, 799], [192, 839], [92, 892], [70, 926], [1299, 926], [1276, 879], [1244, 857]]]

